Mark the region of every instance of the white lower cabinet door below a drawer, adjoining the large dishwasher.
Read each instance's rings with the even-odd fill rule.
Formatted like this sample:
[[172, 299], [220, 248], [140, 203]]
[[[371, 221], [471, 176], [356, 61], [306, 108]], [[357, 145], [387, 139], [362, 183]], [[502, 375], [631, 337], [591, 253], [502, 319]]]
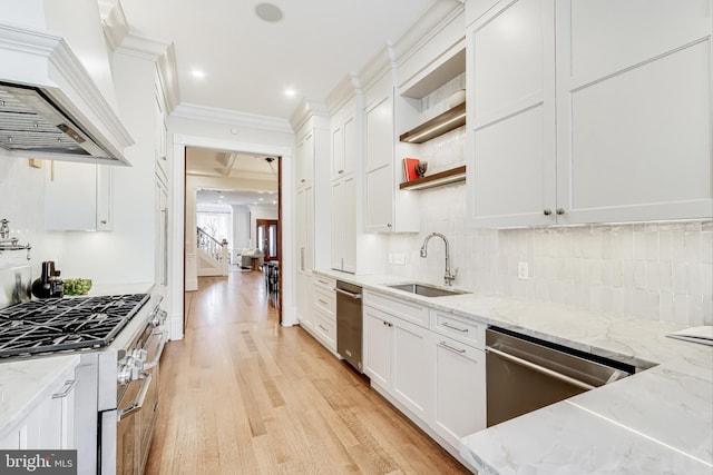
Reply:
[[486, 427], [484, 352], [432, 334], [436, 380], [432, 426], [452, 447]]

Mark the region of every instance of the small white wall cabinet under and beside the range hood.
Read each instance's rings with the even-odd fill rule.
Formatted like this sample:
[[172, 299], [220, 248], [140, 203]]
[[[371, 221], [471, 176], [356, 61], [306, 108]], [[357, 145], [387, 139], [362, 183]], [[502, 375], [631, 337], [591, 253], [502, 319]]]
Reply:
[[111, 167], [72, 161], [45, 166], [45, 229], [111, 229]]

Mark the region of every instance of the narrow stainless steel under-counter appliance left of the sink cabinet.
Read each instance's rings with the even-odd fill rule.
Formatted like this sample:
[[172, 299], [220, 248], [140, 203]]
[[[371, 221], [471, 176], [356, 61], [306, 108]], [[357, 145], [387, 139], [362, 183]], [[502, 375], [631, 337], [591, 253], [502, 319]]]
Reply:
[[336, 281], [336, 353], [359, 373], [361, 365], [361, 287]]

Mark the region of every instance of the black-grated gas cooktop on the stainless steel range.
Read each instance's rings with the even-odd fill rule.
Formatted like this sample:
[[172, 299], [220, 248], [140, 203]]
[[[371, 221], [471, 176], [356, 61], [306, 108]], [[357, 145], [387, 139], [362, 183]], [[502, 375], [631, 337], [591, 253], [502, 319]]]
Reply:
[[109, 345], [148, 294], [48, 298], [0, 310], [0, 358]]

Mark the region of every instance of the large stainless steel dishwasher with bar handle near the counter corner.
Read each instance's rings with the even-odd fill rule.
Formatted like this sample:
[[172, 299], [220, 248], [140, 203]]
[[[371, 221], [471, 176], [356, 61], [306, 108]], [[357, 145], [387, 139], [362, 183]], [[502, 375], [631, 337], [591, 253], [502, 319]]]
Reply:
[[486, 330], [488, 427], [634, 374], [634, 366], [502, 328]]

